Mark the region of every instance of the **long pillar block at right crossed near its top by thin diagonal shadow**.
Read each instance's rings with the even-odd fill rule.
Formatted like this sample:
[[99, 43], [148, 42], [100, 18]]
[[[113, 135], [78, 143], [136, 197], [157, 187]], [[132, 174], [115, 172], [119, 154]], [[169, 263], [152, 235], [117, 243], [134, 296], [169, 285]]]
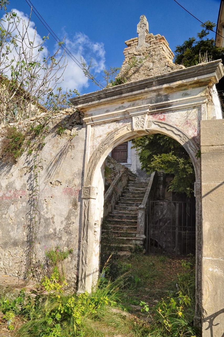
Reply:
[[202, 256], [224, 259], [224, 183], [203, 184]]

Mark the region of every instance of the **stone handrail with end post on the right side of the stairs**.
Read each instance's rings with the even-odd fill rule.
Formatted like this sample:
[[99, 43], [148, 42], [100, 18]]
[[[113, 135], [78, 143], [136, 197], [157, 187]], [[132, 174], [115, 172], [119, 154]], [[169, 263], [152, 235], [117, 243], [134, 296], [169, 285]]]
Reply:
[[151, 174], [151, 177], [149, 179], [148, 187], [147, 187], [147, 190], [145, 192], [143, 201], [142, 201], [141, 205], [138, 207], [136, 238], [139, 238], [139, 239], [142, 239], [142, 240], [144, 240], [146, 238], [146, 236], [145, 236], [145, 222], [146, 222], [147, 201], [148, 201], [151, 189], [152, 189], [152, 183], [153, 183], [154, 176], [155, 176], [155, 172], [153, 172]]

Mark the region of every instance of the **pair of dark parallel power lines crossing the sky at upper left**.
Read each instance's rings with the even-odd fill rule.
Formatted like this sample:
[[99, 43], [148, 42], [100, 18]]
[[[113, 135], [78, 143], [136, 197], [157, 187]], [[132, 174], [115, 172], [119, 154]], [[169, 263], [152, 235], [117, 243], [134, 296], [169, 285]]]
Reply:
[[[49, 32], [49, 34], [52, 35], [52, 37], [54, 38], [54, 40], [56, 42], [61, 42], [60, 38], [54, 33], [54, 31], [50, 28], [50, 26], [46, 23], [46, 21], [43, 19], [43, 17], [41, 16], [41, 14], [38, 12], [38, 10], [35, 8], [35, 6], [32, 4], [32, 2], [30, 0], [25, 0], [27, 2], [27, 4], [30, 6], [30, 8], [33, 10], [34, 14], [36, 15], [36, 17], [40, 20], [40, 22], [43, 24], [43, 26], [47, 29], [47, 31]], [[31, 5], [30, 5], [31, 4]], [[41, 20], [41, 19], [43, 20]], [[96, 84], [101, 88], [105, 88], [87, 69], [85, 69], [85, 67], [75, 58], [75, 56], [70, 52], [70, 50], [66, 47], [66, 45], [64, 44], [64, 42], [61, 43], [61, 47], [62, 49], [68, 54], [68, 56], [70, 56], [70, 58], [77, 64], [77, 66], [82, 69], [82, 71], [85, 71], [87, 73], [87, 77], [89, 77], [90, 79], [94, 80], [96, 82]]]

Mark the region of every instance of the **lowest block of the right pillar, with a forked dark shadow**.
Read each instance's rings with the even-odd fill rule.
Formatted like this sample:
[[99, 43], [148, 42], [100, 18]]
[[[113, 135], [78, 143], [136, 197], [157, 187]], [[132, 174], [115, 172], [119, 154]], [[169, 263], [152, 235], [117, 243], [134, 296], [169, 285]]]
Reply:
[[202, 336], [224, 332], [224, 260], [202, 258]]

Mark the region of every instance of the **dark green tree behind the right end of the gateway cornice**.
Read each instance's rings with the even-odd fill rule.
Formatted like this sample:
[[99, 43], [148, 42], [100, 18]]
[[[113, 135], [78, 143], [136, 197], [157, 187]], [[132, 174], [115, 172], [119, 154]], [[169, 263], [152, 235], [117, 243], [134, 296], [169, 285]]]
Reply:
[[201, 24], [202, 30], [197, 33], [198, 39], [190, 37], [183, 44], [176, 47], [175, 63], [183, 64], [185, 67], [196, 65], [201, 61], [201, 58], [207, 60], [217, 60], [223, 57], [224, 48], [216, 47], [215, 39], [208, 38], [210, 29], [216, 25], [211, 21], [206, 21]]

